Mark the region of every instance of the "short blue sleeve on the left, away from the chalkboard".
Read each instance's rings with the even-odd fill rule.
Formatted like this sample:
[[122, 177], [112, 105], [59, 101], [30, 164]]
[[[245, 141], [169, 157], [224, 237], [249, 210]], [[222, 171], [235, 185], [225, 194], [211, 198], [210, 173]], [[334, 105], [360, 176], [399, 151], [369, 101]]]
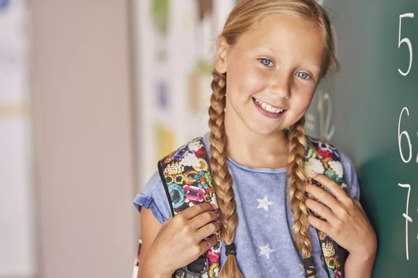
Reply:
[[150, 208], [155, 218], [161, 224], [171, 217], [171, 208], [165, 193], [160, 174], [155, 172], [146, 183], [141, 193], [134, 199], [134, 207], [141, 212], [141, 206]]

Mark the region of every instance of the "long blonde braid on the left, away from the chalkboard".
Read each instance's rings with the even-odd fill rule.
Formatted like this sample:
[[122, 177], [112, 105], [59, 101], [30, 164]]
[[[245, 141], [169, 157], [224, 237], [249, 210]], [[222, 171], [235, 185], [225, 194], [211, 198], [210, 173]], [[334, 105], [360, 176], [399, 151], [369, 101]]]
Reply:
[[[226, 74], [212, 72], [212, 96], [210, 97], [209, 127], [210, 127], [210, 167], [215, 182], [215, 194], [221, 214], [220, 233], [226, 245], [233, 244], [235, 228], [238, 224], [236, 205], [233, 199], [232, 177], [229, 174], [226, 153], [225, 134], [225, 103]], [[222, 278], [243, 278], [235, 256], [229, 255], [219, 273]]]

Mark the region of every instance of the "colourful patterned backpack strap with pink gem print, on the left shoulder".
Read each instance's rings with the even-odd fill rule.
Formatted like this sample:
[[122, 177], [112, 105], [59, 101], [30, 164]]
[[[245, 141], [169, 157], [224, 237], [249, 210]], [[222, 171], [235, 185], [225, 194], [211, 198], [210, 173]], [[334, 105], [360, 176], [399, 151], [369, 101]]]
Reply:
[[[158, 170], [173, 216], [195, 204], [212, 203], [217, 206], [203, 138], [196, 138], [163, 158], [158, 163]], [[217, 209], [215, 211], [218, 213]], [[215, 236], [219, 236], [218, 233]], [[199, 259], [176, 270], [173, 278], [217, 277], [221, 245], [219, 239]]]

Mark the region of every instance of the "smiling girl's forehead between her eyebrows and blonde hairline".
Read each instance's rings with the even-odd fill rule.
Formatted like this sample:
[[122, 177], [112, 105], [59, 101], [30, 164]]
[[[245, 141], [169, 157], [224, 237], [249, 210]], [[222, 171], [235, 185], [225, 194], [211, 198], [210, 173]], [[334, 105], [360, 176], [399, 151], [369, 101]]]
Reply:
[[298, 54], [313, 63], [321, 63], [325, 55], [325, 40], [318, 24], [278, 14], [263, 18], [242, 35], [235, 47], [240, 51], [269, 49], [273, 54]]

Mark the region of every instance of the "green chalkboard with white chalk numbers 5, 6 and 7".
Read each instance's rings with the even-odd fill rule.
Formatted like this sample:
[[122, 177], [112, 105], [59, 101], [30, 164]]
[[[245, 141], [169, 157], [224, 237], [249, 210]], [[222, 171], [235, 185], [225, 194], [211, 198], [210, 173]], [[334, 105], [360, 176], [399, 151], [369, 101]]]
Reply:
[[323, 5], [341, 70], [319, 85], [307, 131], [357, 169], [379, 240], [373, 277], [418, 277], [418, 0]]

